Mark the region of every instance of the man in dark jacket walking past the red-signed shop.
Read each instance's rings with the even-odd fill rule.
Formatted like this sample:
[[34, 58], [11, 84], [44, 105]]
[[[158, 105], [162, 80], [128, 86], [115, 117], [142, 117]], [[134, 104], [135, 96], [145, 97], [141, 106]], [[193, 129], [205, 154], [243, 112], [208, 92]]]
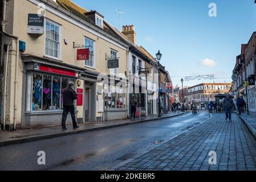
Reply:
[[70, 112], [73, 122], [73, 128], [78, 129], [79, 126], [76, 124], [75, 117], [75, 106], [74, 100], [78, 99], [78, 95], [74, 91], [74, 84], [69, 84], [68, 88], [63, 92], [63, 115], [62, 115], [62, 130], [67, 130], [66, 119], [67, 115]]

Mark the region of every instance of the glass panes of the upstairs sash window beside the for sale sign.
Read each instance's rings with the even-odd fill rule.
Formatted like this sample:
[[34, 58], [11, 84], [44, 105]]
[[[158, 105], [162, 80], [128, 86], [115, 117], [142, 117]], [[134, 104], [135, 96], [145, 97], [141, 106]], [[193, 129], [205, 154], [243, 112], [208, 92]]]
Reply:
[[45, 55], [59, 59], [59, 29], [57, 24], [46, 20]]

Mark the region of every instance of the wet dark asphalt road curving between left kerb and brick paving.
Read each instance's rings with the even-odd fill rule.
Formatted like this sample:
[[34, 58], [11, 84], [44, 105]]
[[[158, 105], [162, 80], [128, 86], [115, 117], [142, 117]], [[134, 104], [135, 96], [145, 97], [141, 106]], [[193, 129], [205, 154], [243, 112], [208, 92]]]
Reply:
[[[107, 170], [209, 117], [206, 112], [187, 113], [176, 118], [0, 147], [0, 170]], [[46, 152], [45, 166], [37, 164], [38, 151]]]

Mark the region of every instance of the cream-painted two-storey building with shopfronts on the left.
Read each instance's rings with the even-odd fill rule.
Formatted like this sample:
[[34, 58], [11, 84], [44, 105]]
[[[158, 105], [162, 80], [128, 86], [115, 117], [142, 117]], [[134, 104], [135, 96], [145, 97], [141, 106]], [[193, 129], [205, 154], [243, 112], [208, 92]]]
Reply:
[[[34, 16], [44, 12], [42, 26], [42, 19]], [[129, 46], [103, 15], [68, 0], [3, 1], [3, 13], [1, 57], [7, 74], [3, 78], [2, 127], [60, 125], [62, 92], [70, 82], [79, 95], [78, 122], [127, 118], [127, 94], [110, 93], [97, 80], [99, 73], [126, 73], [128, 65]], [[34, 21], [32, 26], [39, 27], [28, 27], [29, 18]], [[90, 50], [90, 58], [77, 60], [77, 50], [83, 48]], [[119, 59], [119, 68], [108, 69], [109, 59]], [[105, 114], [109, 111], [115, 117]]]

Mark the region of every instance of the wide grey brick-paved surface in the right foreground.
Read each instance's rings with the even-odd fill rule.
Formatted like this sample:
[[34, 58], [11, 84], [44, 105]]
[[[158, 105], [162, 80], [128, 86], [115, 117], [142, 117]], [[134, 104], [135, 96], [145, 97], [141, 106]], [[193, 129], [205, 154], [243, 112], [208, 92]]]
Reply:
[[[212, 118], [152, 151], [117, 168], [131, 171], [255, 171], [256, 141], [237, 114], [232, 122], [225, 114]], [[217, 152], [210, 165], [209, 151]]]

